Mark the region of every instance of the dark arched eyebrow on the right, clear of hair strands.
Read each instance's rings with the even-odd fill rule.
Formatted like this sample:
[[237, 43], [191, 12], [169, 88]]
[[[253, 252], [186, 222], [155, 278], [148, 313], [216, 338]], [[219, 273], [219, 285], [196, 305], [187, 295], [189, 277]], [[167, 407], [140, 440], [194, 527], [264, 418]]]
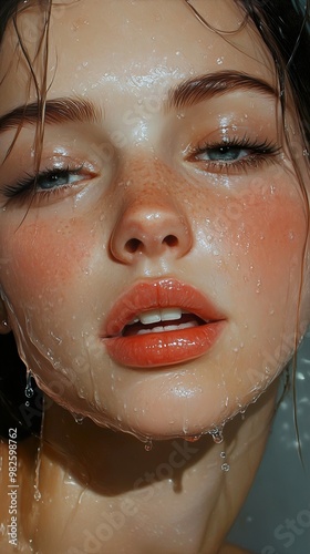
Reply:
[[168, 110], [179, 110], [235, 91], [255, 91], [267, 96], [279, 98], [277, 89], [262, 79], [247, 73], [221, 71], [189, 79], [178, 84], [169, 92], [166, 106]]

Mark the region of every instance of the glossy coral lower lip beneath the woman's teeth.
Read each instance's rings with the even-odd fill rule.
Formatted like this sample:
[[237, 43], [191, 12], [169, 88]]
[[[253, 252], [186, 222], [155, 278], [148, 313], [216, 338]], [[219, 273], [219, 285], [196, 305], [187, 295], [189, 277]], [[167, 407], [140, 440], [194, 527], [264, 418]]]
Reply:
[[189, 329], [115, 337], [104, 342], [111, 358], [122, 366], [173, 366], [206, 353], [217, 341], [224, 325], [223, 320], [211, 321]]

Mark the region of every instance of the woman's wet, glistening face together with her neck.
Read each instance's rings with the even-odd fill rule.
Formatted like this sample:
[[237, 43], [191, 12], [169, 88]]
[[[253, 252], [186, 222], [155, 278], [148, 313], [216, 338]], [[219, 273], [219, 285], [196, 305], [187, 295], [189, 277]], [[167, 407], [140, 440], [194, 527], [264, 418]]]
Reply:
[[[307, 206], [269, 52], [231, 0], [195, 7], [240, 30], [177, 0], [52, 8], [33, 196], [37, 95], [4, 40], [0, 120], [28, 110], [8, 156], [17, 113], [0, 121], [1, 309], [46, 393], [21, 552], [244, 552], [225, 535], [309, 322]], [[18, 20], [33, 60], [37, 17]]]

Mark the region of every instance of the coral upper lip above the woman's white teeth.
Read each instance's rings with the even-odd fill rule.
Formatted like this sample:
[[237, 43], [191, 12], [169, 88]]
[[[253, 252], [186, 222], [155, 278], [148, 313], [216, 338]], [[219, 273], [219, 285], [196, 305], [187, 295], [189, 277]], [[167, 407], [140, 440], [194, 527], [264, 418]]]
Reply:
[[205, 321], [226, 319], [223, 312], [192, 285], [173, 278], [140, 281], [126, 290], [113, 305], [102, 337], [118, 337], [125, 326], [140, 314], [169, 307], [195, 314]]

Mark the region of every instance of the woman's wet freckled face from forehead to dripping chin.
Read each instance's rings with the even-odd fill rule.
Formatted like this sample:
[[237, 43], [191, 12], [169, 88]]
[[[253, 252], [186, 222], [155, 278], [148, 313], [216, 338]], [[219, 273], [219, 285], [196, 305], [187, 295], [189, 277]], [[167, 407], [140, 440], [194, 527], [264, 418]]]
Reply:
[[[214, 32], [180, 0], [54, 6], [33, 196], [37, 96], [11, 30], [2, 54], [0, 115], [34, 103], [1, 121], [10, 324], [56, 402], [142, 438], [196, 435], [244, 410], [298, 327], [307, 209], [273, 63], [235, 2], [195, 8], [240, 30]], [[37, 23], [19, 19], [31, 58]]]

